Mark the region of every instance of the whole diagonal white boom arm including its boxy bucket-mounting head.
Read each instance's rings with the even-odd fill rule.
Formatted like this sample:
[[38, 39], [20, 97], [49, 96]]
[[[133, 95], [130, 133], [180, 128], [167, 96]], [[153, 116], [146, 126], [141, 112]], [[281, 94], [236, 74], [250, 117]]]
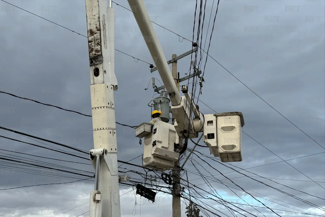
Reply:
[[[171, 110], [175, 117], [174, 126], [178, 136], [190, 138], [198, 137], [198, 133], [203, 131], [203, 115], [200, 112], [198, 112], [199, 114], [194, 112], [196, 115], [194, 119], [192, 118], [193, 111], [190, 106], [191, 96], [187, 93], [187, 87], [185, 85], [182, 86], [182, 92], [186, 96], [180, 96], [143, 0], [128, 0], [128, 3], [147, 44], [153, 62], [168, 92], [172, 103]], [[192, 108], [196, 110], [195, 104], [192, 104]]]

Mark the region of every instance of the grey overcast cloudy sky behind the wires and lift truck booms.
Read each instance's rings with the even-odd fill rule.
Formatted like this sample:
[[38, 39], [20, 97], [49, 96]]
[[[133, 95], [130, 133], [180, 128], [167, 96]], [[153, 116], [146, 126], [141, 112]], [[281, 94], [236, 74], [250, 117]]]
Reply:
[[[87, 35], [84, 0], [6, 1], [77, 33]], [[217, 1], [206, 2], [202, 38], [203, 46], [205, 37], [208, 36], [205, 51], [209, 43]], [[129, 8], [126, 0], [116, 0], [116, 3]], [[192, 49], [191, 42], [187, 39], [191, 40], [193, 36], [195, 3], [195, 0], [145, 1], [151, 20], [176, 33], [153, 24], [167, 60], [172, 58], [173, 53], [180, 55]], [[314, 216], [325, 214], [324, 5], [324, 1], [321, 0], [220, 1], [209, 49], [209, 54], [214, 59], [207, 58], [204, 73], [206, 82], [203, 83], [202, 95], [199, 97], [200, 110], [204, 114], [229, 111], [243, 113], [245, 119], [243, 127], [245, 134], [242, 135], [243, 161], [224, 165], [232, 166], [237, 170], [238, 168], [234, 166], [242, 169], [255, 168], [247, 169], [251, 173], [240, 171], [247, 176], [252, 176], [251, 178], [242, 177], [243, 175], [238, 172], [230, 173], [233, 170], [215, 162], [213, 160], [215, 158], [209, 159], [201, 155], [210, 156], [208, 149], [196, 148], [198, 151], [196, 154], [211, 165], [208, 166], [194, 155], [191, 160], [193, 164], [188, 161], [185, 166], [188, 180], [192, 180], [189, 182], [197, 186], [195, 189], [201, 197], [205, 195], [207, 198], [217, 199], [216, 196], [219, 195], [229, 202], [246, 204], [244, 202], [246, 201], [251, 205], [263, 207], [260, 202], [237, 187], [235, 185], [237, 184], [246, 192], [258, 195], [255, 198], [266, 206], [277, 209], [275, 212], [280, 216], [305, 215], [300, 214], [302, 212], [312, 213]], [[153, 63], [132, 12], [121, 6], [113, 4], [116, 11], [115, 48], [136, 59]], [[211, 22], [207, 28], [211, 10]], [[197, 18], [198, 13], [199, 11], [197, 11]], [[87, 39], [2, 0], [0, 19], [0, 91], [87, 115], [91, 114]], [[147, 88], [152, 77], [161, 80], [157, 71], [151, 74], [147, 63], [133, 57], [115, 52], [115, 73], [119, 85], [118, 91], [114, 93], [116, 121], [132, 126], [149, 121], [151, 110], [147, 104], [154, 92], [151, 84], [148, 90], [144, 89]], [[203, 63], [205, 58], [204, 54]], [[181, 77], [188, 72], [190, 61], [189, 56], [178, 61], [177, 67]], [[86, 151], [93, 148], [90, 117], [4, 93], [0, 94], [0, 126]], [[139, 145], [132, 128], [117, 125], [117, 135], [119, 160], [128, 161], [143, 153], [143, 146]], [[0, 130], [0, 136], [46, 147], [51, 145], [62, 148], [46, 142], [42, 144], [5, 130]], [[43, 161], [43, 165], [47, 162], [52, 166], [61, 165], [61, 169], [64, 166], [64, 169], [67, 167], [79, 169], [81, 173], [90, 172], [85, 174], [94, 171], [85, 159], [5, 138], [0, 138], [0, 141], [0, 153], [6, 159], [16, 158], [17, 161], [33, 159], [30, 161]], [[202, 141], [200, 144], [204, 145]], [[189, 144], [189, 147], [193, 147], [193, 144]], [[84, 164], [58, 162], [15, 152]], [[293, 160], [283, 162], [289, 159]], [[131, 162], [142, 164], [141, 157]], [[262, 166], [266, 164], [270, 165]], [[122, 167], [144, 172], [139, 167], [128, 165]], [[204, 176], [210, 176], [206, 178], [208, 181], [221, 180], [219, 183], [211, 183], [217, 192], [209, 188], [205, 183], [206, 180], [204, 181], [198, 175], [195, 167]], [[231, 179], [233, 181], [231, 182], [214, 168], [221, 173], [227, 173], [224, 175], [228, 178], [236, 179]], [[137, 174], [128, 174], [141, 179]], [[183, 173], [182, 175], [182, 179], [186, 180], [186, 175]], [[214, 177], [211, 177], [212, 175]], [[86, 178], [0, 160], [0, 189], [62, 183]], [[256, 180], [308, 201], [314, 206]], [[226, 185], [234, 188], [228, 188]], [[170, 195], [157, 193], [156, 202], [152, 204], [144, 198], [135, 196], [132, 187], [120, 186], [120, 188], [123, 217], [171, 216]], [[87, 202], [92, 189], [92, 181], [79, 181], [0, 190], [0, 216], [52, 217], [64, 212], [58, 217], [75, 217], [88, 211]], [[222, 217], [233, 216], [226, 207], [212, 200], [195, 198], [200, 195], [193, 190], [190, 192], [191, 196], [194, 196], [193, 200], [201, 203], [206, 209]], [[189, 197], [187, 190], [184, 195]], [[265, 196], [268, 196], [268, 199], [273, 198], [270, 199], [273, 202], [267, 200]], [[185, 216], [185, 202], [188, 203], [182, 200], [183, 216]], [[266, 208], [255, 207], [255, 210], [250, 206], [238, 204], [237, 206], [256, 216], [276, 216]], [[315, 206], [322, 207], [323, 210]], [[234, 206], [231, 208], [238, 210]], [[235, 214], [240, 216], [236, 212]], [[82, 216], [88, 216], [88, 213]]]

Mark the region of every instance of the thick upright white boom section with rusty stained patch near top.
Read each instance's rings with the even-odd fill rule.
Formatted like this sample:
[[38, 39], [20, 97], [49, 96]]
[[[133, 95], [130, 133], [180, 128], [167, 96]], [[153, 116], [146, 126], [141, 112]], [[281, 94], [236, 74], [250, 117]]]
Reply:
[[[114, 72], [115, 12], [110, 0], [85, 2], [94, 149], [107, 150], [100, 156], [99, 183], [96, 183], [99, 191], [93, 191], [92, 195], [101, 204], [102, 215], [98, 217], [121, 217], [113, 94], [118, 89]], [[100, 213], [98, 205], [91, 201], [89, 216], [95, 215], [94, 206], [96, 213]]]

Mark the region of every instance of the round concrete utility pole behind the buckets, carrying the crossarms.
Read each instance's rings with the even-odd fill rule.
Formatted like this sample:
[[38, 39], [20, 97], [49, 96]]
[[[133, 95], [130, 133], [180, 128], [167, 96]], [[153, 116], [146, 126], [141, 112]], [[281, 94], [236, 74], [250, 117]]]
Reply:
[[[172, 60], [176, 59], [176, 54], [172, 55]], [[177, 60], [172, 63], [172, 75], [176, 86], [178, 85], [177, 80]], [[172, 114], [172, 123], [174, 124], [175, 117]], [[179, 137], [180, 141], [181, 137]], [[176, 151], [176, 150], [175, 150]], [[179, 179], [179, 161], [175, 162], [175, 166], [172, 170], [173, 175], [173, 217], [181, 217], [181, 197], [180, 197], [180, 179]]]

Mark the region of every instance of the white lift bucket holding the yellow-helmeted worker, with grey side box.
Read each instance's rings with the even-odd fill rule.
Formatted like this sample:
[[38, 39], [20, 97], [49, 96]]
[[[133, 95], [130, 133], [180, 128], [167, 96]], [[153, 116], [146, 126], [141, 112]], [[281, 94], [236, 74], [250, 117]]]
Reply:
[[179, 157], [174, 151], [178, 144], [174, 125], [158, 121], [151, 130], [151, 124], [142, 123], [136, 127], [136, 137], [144, 138], [143, 166], [160, 171], [174, 167]]

